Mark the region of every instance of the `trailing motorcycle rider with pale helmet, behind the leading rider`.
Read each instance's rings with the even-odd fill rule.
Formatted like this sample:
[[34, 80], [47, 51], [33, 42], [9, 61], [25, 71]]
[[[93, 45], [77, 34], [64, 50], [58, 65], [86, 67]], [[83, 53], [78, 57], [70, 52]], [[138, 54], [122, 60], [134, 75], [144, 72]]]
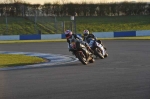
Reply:
[[[106, 48], [105, 48], [104, 45], [102, 44], [102, 41], [101, 41], [101, 40], [97, 40], [97, 38], [95, 37], [94, 34], [90, 34], [90, 33], [89, 33], [89, 30], [84, 30], [84, 31], [83, 31], [83, 41], [87, 42], [90, 47], [93, 47], [94, 42], [93, 42], [93, 40], [90, 39], [90, 38], [93, 38], [96, 43], [99, 43], [98, 45], [99, 45], [99, 48], [100, 48], [101, 51], [102, 51], [103, 56], [108, 56], [108, 54], [105, 53]], [[106, 55], [106, 54], [107, 54], [107, 55]]]

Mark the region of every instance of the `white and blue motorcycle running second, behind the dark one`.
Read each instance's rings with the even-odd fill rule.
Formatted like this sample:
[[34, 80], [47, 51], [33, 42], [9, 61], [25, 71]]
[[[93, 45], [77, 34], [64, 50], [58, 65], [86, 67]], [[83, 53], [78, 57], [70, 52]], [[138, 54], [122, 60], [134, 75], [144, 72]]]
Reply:
[[[94, 51], [94, 55], [96, 57], [99, 57], [101, 59], [108, 57], [106, 48], [101, 44], [100, 40], [96, 41], [94, 38], [89, 38], [88, 41], [89, 41], [89, 45], [91, 46], [91, 49]], [[104, 55], [103, 55], [103, 51], [104, 51]]]

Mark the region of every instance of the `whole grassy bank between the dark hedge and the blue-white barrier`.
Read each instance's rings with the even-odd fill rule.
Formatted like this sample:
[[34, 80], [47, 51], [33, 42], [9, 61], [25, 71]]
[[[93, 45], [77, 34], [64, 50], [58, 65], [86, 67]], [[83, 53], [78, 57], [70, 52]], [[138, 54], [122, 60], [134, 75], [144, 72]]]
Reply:
[[[82, 33], [84, 29], [90, 32], [109, 32], [109, 31], [132, 31], [132, 30], [150, 30], [150, 16], [105, 16], [105, 17], [75, 17], [77, 33]], [[70, 16], [56, 17], [58, 28], [55, 29], [54, 18], [38, 17], [37, 24], [34, 23], [34, 17], [24, 19], [22, 17], [8, 17], [6, 25], [5, 17], [0, 17], [0, 35], [19, 35], [36, 34], [41, 30], [42, 34], [63, 33], [61, 22], [65, 21], [65, 29], [71, 29], [69, 26]], [[61, 32], [62, 31], [62, 32]]]

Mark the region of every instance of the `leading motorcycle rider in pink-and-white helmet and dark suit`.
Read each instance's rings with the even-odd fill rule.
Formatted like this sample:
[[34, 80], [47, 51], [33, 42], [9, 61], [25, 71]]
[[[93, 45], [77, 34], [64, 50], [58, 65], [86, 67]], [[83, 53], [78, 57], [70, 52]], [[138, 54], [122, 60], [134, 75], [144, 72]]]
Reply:
[[[88, 45], [88, 43], [84, 42], [82, 37], [80, 37], [79, 35], [77, 34], [73, 34], [71, 30], [66, 30], [65, 31], [65, 36], [66, 36], [66, 39], [67, 39], [67, 43], [68, 43], [68, 49], [69, 51], [72, 51], [72, 47], [71, 47], [71, 40], [73, 39], [78, 39], [80, 41], [80, 43], [82, 43], [83, 45], [85, 45], [85, 47], [91, 52], [93, 53], [92, 49], [90, 48], [90, 46]], [[74, 52], [73, 52], [74, 54]]]

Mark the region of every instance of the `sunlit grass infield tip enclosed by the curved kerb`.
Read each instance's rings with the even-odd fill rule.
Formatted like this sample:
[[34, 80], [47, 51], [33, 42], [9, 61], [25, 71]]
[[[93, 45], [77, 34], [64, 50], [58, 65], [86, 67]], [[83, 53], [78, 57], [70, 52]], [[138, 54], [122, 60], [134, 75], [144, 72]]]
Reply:
[[34, 56], [0, 54], [0, 68], [31, 65], [42, 62], [46, 62], [46, 60]]

